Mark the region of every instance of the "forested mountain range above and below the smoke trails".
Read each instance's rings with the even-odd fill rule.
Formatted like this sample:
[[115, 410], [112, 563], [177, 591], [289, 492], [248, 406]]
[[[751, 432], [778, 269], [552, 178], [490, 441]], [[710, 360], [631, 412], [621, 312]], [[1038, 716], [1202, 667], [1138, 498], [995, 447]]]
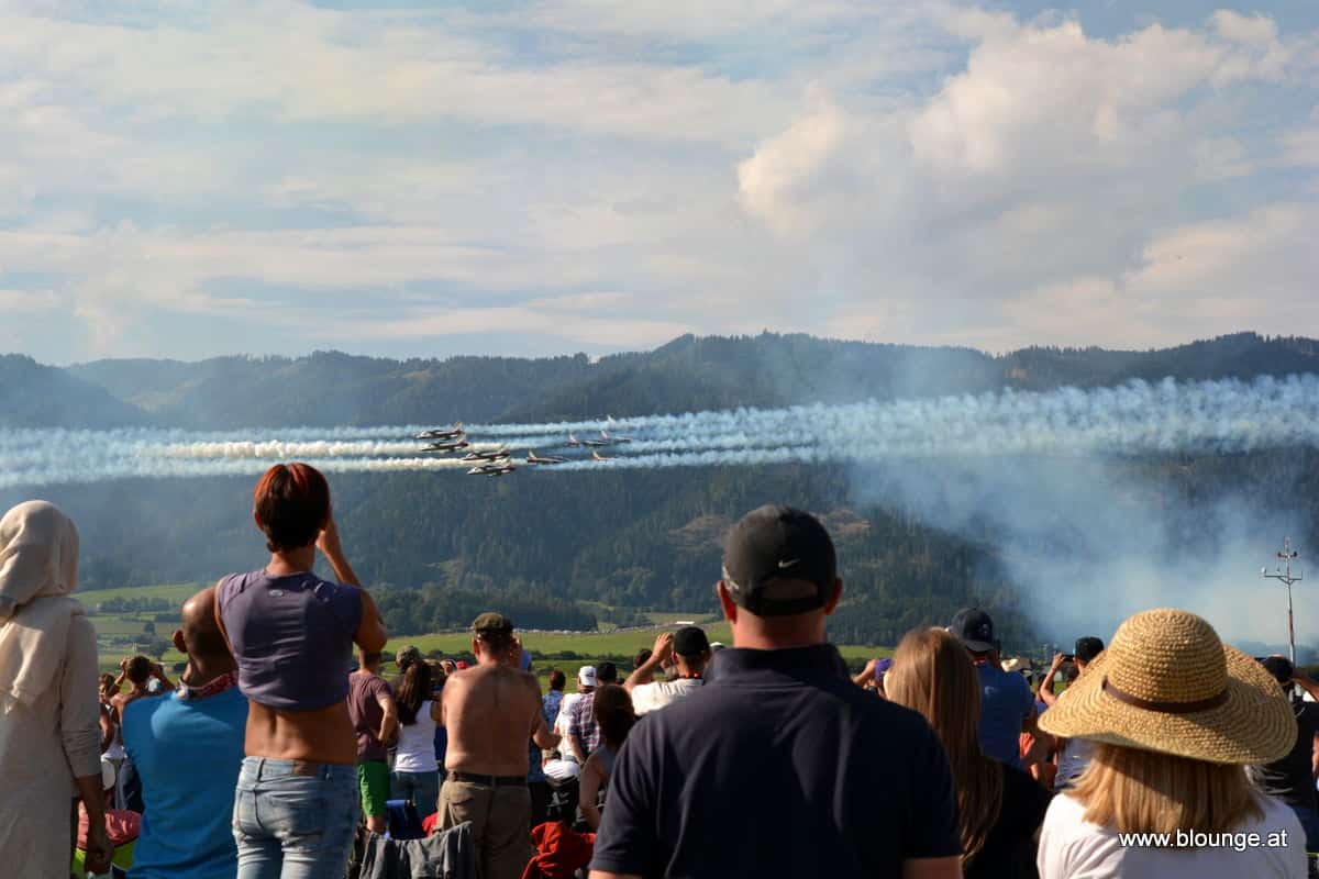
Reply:
[[[1150, 352], [971, 349], [842, 343], [765, 333], [683, 336], [645, 353], [539, 360], [409, 360], [317, 353], [96, 361], [67, 369], [0, 357], [0, 428], [194, 430], [522, 422], [619, 418], [739, 406], [893, 399], [1158, 381], [1319, 373], [1319, 343], [1239, 333]], [[1306, 510], [1319, 455], [1278, 451]], [[1215, 493], [1260, 494], [1278, 480], [1268, 456], [1140, 463], [1132, 484], [1155, 506], [1212, 503]], [[1066, 467], [1066, 463], [1060, 464]], [[720, 538], [747, 510], [789, 502], [826, 517], [847, 582], [836, 638], [894, 643], [907, 629], [946, 623], [956, 608], [993, 609], [1005, 642], [1034, 643], [1026, 601], [1006, 573], [993, 522], [956, 534], [902, 499], [855, 492], [847, 465], [708, 467], [591, 473], [335, 474], [350, 556], [390, 629], [412, 634], [470, 623], [500, 608], [530, 627], [629, 622], [641, 609], [714, 613]], [[1303, 484], [1303, 485], [1302, 485]], [[84, 589], [214, 581], [259, 567], [249, 477], [115, 480], [45, 486], [83, 535]], [[938, 490], [933, 486], [931, 490]], [[0, 490], [0, 509], [32, 497]], [[1144, 501], [1142, 501], [1144, 503]], [[1311, 526], [1319, 515], [1303, 522]], [[1314, 546], [1319, 534], [1299, 535]], [[1187, 525], [1194, 539], [1196, 523]], [[1033, 552], [1067, 555], [1075, 535], [1050, 527]], [[1035, 613], [1038, 613], [1038, 608]], [[1038, 617], [1037, 617], [1038, 618]]]

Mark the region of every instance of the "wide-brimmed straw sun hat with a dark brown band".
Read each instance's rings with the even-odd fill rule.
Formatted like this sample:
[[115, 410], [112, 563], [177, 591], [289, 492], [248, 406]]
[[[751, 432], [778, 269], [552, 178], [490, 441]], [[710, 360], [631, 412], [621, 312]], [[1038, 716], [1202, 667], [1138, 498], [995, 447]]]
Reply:
[[1210, 763], [1272, 763], [1297, 742], [1269, 672], [1184, 610], [1146, 610], [1117, 629], [1058, 702], [1046, 733]]

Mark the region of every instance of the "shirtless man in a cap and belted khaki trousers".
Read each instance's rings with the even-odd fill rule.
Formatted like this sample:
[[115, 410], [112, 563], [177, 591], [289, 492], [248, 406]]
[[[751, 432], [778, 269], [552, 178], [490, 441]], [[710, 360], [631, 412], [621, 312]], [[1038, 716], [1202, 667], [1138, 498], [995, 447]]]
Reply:
[[526, 742], [553, 749], [559, 737], [541, 716], [541, 688], [520, 671], [521, 646], [508, 618], [487, 613], [472, 623], [476, 664], [445, 684], [443, 723], [448, 729], [437, 830], [472, 822], [476, 875], [518, 879], [532, 857], [528, 826]]

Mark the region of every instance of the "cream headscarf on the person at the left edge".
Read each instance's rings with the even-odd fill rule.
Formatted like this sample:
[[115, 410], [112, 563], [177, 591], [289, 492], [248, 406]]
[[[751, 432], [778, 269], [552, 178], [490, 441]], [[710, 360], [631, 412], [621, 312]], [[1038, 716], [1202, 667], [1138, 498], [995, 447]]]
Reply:
[[32, 704], [57, 683], [73, 618], [82, 605], [78, 528], [45, 501], [20, 503], [0, 519], [0, 709]]

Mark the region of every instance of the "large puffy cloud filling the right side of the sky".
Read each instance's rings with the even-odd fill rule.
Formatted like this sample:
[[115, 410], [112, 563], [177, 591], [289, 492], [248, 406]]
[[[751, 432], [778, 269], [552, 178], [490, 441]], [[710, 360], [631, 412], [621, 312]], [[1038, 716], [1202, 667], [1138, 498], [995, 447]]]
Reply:
[[[1297, 41], [1272, 21], [1231, 14], [1202, 30], [1151, 25], [1119, 40], [1070, 20], [948, 21], [975, 42], [966, 69], [923, 104], [884, 117], [845, 98], [807, 105], [740, 167], [743, 206], [795, 252], [799, 270], [783, 283], [813, 291], [822, 323], [995, 348], [1277, 326], [1244, 293], [1244, 273], [1227, 269], [1236, 257], [1254, 270], [1286, 266], [1268, 273], [1269, 299], [1291, 303], [1293, 328], [1319, 320], [1304, 245], [1277, 228], [1306, 204], [1261, 208], [1217, 232], [1186, 207], [1198, 187], [1269, 163], [1285, 120], [1252, 130], [1249, 92], [1233, 90], [1302, 70]], [[1290, 137], [1297, 157], [1307, 142]], [[1170, 287], [1161, 273], [1186, 269], [1158, 253], [1175, 246], [1167, 229], [1178, 228], [1236, 237], [1187, 248], [1179, 262], [1198, 266], [1195, 281]]]

